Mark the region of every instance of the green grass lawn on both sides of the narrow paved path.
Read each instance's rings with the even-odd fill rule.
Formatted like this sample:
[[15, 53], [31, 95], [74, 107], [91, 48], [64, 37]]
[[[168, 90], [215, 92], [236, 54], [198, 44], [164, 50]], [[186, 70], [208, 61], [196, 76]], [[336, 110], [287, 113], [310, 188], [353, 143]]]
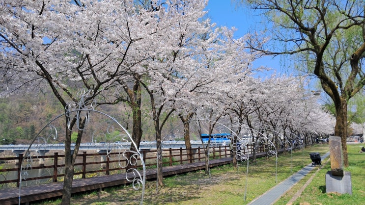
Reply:
[[[359, 153], [364, 145], [348, 145], [351, 172], [352, 195], [326, 193], [325, 174], [331, 170], [327, 159], [322, 167], [315, 167], [304, 179], [295, 184], [275, 205], [309, 203], [311, 205], [360, 205], [365, 204], [365, 153]], [[156, 193], [156, 181], [147, 181], [143, 204], [148, 205], [232, 205], [249, 204], [282, 180], [296, 173], [311, 163], [309, 153], [329, 152], [328, 145], [316, 145], [306, 150], [281, 154], [275, 157], [261, 158], [249, 163], [240, 163], [239, 169], [231, 165], [216, 167], [211, 170], [211, 178], [204, 171], [187, 173], [165, 178], [163, 187]], [[327, 162], [327, 163], [326, 163]], [[310, 183], [309, 183], [310, 182]], [[306, 184], [309, 183], [309, 184]], [[246, 188], [247, 187], [247, 188]], [[304, 189], [304, 187], [306, 187]], [[302, 190], [303, 189], [303, 190]], [[246, 200], [244, 200], [246, 193]], [[300, 193], [299, 196], [296, 194]], [[131, 186], [106, 188], [77, 194], [72, 197], [73, 205], [137, 205], [140, 203], [140, 191]], [[56, 205], [60, 200], [40, 204]]]

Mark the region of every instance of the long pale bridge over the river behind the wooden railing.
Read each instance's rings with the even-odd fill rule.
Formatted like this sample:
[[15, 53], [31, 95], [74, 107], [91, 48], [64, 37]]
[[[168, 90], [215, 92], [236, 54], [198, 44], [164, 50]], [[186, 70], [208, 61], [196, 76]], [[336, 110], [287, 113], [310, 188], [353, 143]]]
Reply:
[[[229, 145], [230, 141], [212, 141], [210, 146], [211, 147], [218, 147], [218, 146], [226, 146]], [[191, 145], [193, 149], [203, 147], [201, 141], [191, 141]], [[206, 146], [207, 143], [204, 143]], [[65, 144], [58, 143], [58, 144], [32, 144], [30, 145], [1, 145], [0, 152], [4, 151], [11, 151], [15, 154], [21, 154], [26, 150], [35, 151], [39, 154], [43, 155], [48, 153], [50, 150], [64, 150]], [[157, 149], [156, 141], [142, 141], [140, 142], [140, 150], [152, 150]], [[185, 141], [163, 141], [162, 142], [162, 149], [176, 149], [176, 148], [183, 148], [185, 149]], [[129, 150], [131, 147], [131, 142], [101, 142], [101, 143], [81, 143], [79, 150], [96, 150], [97, 152], [106, 152], [107, 150]], [[75, 149], [75, 144], [71, 144], [71, 150]]]

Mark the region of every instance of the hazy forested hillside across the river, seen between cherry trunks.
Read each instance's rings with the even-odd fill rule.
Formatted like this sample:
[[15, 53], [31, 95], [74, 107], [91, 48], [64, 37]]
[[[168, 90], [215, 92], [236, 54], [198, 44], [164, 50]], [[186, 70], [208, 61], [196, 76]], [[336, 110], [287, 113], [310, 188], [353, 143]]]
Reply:
[[[142, 122], [143, 140], [155, 140], [153, 122], [149, 116], [147, 102], [144, 102]], [[132, 113], [123, 103], [99, 105], [95, 109], [115, 118], [131, 132]], [[63, 114], [64, 110], [51, 91], [11, 95], [0, 98], [0, 139], [1, 144], [28, 144], [48, 122]], [[180, 123], [171, 118], [166, 125], [169, 130]], [[168, 132], [168, 131], [165, 131]]]

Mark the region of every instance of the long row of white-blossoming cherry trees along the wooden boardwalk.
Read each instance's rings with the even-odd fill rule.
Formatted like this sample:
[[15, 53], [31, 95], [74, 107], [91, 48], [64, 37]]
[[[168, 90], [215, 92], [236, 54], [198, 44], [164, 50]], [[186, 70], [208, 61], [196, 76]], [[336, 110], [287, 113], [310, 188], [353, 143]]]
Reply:
[[[97, 105], [125, 103], [137, 147], [144, 110], [153, 121], [157, 148], [168, 119], [189, 122], [197, 108], [213, 122], [225, 122], [237, 135], [245, 126], [282, 133], [333, 133], [334, 121], [305, 91], [305, 80], [255, 77], [263, 68], [253, 68], [252, 62], [263, 50], [247, 44], [253, 36], [233, 38], [234, 28], [212, 24], [205, 17], [206, 4], [204, 0], [2, 0], [2, 95], [51, 88], [65, 112], [80, 105], [80, 89], [90, 91], [83, 107], [91, 100]], [[261, 45], [266, 41], [260, 39]], [[73, 164], [86, 123], [78, 114], [65, 116], [62, 204], [69, 204]], [[77, 139], [72, 154], [73, 131]], [[159, 166], [162, 185], [162, 163]]]

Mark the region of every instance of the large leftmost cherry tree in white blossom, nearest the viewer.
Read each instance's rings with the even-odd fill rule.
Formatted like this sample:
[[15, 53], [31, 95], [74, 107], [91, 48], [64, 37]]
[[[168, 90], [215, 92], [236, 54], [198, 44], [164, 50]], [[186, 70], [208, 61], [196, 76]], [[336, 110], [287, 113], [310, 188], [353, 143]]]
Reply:
[[[159, 22], [151, 14], [153, 10], [139, 8], [133, 0], [2, 0], [0, 5], [0, 67], [2, 79], [8, 83], [5, 92], [45, 82], [65, 111], [78, 102], [77, 90], [82, 88], [92, 91], [85, 102], [115, 103], [117, 99], [108, 93], [136, 72], [131, 70], [133, 65], [148, 58], [141, 51], [152, 42]], [[65, 119], [71, 124], [65, 127], [62, 204], [69, 204], [73, 164], [82, 137], [79, 130], [71, 154], [75, 119]]]

